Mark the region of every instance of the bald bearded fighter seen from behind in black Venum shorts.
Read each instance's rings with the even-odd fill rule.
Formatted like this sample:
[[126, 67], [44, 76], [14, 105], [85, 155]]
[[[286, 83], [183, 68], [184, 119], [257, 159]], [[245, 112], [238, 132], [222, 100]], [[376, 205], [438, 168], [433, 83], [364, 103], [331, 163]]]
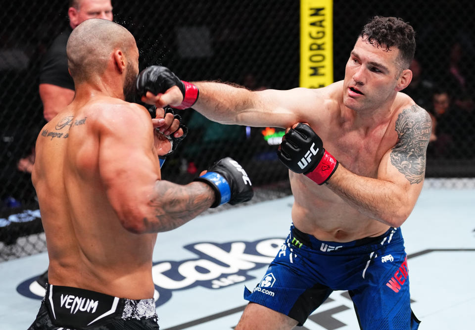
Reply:
[[30, 329], [158, 329], [156, 233], [209, 207], [249, 200], [251, 183], [231, 158], [185, 186], [161, 180], [158, 156], [169, 153], [183, 128], [162, 108], [152, 122], [143, 106], [127, 102], [135, 94], [139, 51], [125, 28], [86, 20], [71, 33], [67, 55], [74, 100], [36, 143], [32, 180], [49, 283]]

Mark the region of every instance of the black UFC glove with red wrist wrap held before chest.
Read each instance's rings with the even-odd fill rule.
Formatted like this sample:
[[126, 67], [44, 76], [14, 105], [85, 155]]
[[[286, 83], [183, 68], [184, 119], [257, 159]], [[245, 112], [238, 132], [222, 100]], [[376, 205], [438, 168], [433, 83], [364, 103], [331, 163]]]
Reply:
[[322, 139], [302, 123], [285, 134], [277, 156], [291, 171], [303, 173], [319, 185], [326, 183], [338, 167], [338, 161], [323, 148]]

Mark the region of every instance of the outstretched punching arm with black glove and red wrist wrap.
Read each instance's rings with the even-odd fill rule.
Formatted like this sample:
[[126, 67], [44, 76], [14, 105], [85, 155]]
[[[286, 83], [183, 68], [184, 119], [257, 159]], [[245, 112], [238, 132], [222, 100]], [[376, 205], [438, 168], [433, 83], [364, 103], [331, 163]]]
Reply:
[[289, 91], [251, 92], [244, 88], [213, 82], [188, 83], [170, 70], [151, 66], [137, 79], [137, 92], [142, 101], [157, 107], [193, 107], [207, 118], [223, 124], [289, 127], [308, 121], [315, 111], [317, 90], [296, 88]]

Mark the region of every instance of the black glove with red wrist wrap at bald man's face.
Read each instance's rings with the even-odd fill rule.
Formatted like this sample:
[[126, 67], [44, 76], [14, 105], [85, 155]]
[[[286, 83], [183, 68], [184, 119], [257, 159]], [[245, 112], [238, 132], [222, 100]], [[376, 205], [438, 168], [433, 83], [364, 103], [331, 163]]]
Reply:
[[198, 98], [198, 88], [189, 82], [178, 79], [168, 68], [159, 65], [152, 65], [139, 73], [136, 81], [136, 93], [139, 99], [144, 96], [147, 91], [152, 94], [165, 93], [173, 86], [178, 86], [183, 94], [183, 101], [176, 109], [190, 108]]

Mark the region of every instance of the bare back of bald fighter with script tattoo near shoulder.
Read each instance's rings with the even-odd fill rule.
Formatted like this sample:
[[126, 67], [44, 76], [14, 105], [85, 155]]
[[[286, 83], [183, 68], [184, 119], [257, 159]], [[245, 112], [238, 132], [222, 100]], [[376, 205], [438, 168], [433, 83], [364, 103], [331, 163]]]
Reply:
[[78, 103], [47, 123], [37, 141], [33, 182], [47, 235], [49, 281], [130, 299], [152, 297], [156, 234], [137, 235], [122, 226], [101, 179], [109, 162], [99, 159], [108, 148], [107, 119], [120, 108], [148, 128], [148, 156], [159, 179], [150, 117], [144, 108], [112, 97]]

